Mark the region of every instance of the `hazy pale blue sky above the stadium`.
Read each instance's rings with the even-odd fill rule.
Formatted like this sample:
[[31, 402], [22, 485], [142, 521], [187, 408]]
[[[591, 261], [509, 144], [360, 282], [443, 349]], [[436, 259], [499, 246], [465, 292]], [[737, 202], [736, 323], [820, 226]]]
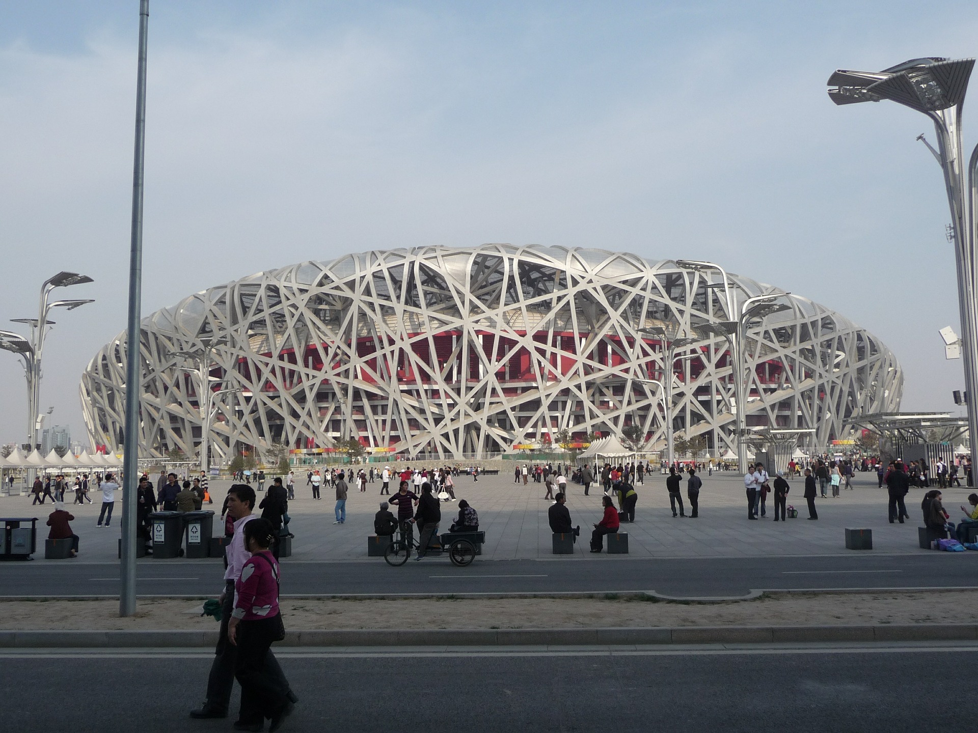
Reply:
[[[42, 407], [75, 438], [81, 371], [125, 327], [138, 7], [0, 2], [0, 321], [36, 317], [60, 270], [95, 278], [58, 291], [97, 302], [56, 312], [45, 353]], [[825, 80], [976, 53], [974, 2], [155, 0], [143, 314], [373, 248], [702, 258], [878, 335], [905, 410], [955, 410], [950, 215], [914, 142], [933, 128], [837, 108]], [[0, 383], [20, 443], [2, 352]]]

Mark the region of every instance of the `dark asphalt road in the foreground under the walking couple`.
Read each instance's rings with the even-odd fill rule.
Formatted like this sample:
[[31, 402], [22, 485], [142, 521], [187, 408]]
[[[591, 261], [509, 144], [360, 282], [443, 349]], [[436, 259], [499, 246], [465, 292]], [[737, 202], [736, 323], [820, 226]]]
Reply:
[[[280, 650], [300, 698], [283, 731], [969, 730], [976, 651], [382, 650], [344, 656]], [[209, 664], [206, 654], [179, 650], [142, 656], [72, 650], [33, 658], [0, 652], [3, 727], [22, 733], [230, 730], [234, 718], [187, 717]], [[940, 683], [936, 669], [948, 670]], [[464, 725], [450, 722], [460, 719]]]

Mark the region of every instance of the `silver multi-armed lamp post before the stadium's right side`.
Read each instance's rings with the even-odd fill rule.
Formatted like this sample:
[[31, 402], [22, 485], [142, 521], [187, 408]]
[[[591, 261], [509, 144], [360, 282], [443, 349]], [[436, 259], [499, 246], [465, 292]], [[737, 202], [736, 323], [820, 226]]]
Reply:
[[691, 270], [698, 273], [716, 271], [723, 277], [722, 283], [706, 284], [707, 287], [717, 287], [722, 284], [724, 288], [724, 300], [726, 305], [727, 317], [730, 321], [720, 321], [717, 323], [703, 323], [695, 326], [695, 330], [704, 336], [723, 336], [730, 345], [731, 357], [733, 358], [733, 429], [736, 437], [736, 459], [737, 466], [743, 470], [747, 465], [747, 444], [743, 440], [746, 421], [746, 387], [747, 382], [744, 378], [744, 356], [743, 344], [747, 331], [747, 324], [755, 318], [764, 318], [779, 311], [785, 311], [790, 306], [783, 303], [776, 303], [778, 298], [782, 298], [790, 293], [776, 293], [772, 295], [755, 295], [742, 302], [737, 302], [730, 286], [730, 276], [720, 265], [701, 260], [678, 260], [676, 262], [684, 270]]

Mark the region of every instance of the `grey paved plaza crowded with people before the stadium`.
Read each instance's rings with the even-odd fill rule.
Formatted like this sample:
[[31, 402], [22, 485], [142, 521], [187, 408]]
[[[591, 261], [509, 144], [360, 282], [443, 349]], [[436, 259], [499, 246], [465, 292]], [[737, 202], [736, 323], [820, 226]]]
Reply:
[[[838, 498], [819, 498], [817, 507], [819, 521], [807, 520], [808, 509], [804, 498], [804, 481], [791, 480], [788, 504], [798, 509], [798, 518], [786, 522], [774, 522], [774, 501], [769, 497], [768, 516], [761, 521], [748, 521], [746, 518], [746, 497], [738, 474], [714, 473], [703, 476], [703, 488], [699, 499], [699, 517], [673, 518], [669, 509], [669, 497], [665, 488], [665, 478], [653, 474], [646, 478], [645, 485], [636, 487], [639, 493], [636, 521], [623, 525], [622, 531], [629, 535], [629, 551], [632, 558], [733, 558], [765, 556], [813, 556], [813, 555], [852, 555], [853, 550], [845, 547], [845, 529], [863, 528], [872, 530], [872, 553], [926, 553], [917, 544], [917, 527], [922, 524], [920, 500], [923, 491], [911, 489], [907, 496], [907, 509], [911, 519], [906, 524], [889, 524], [887, 521], [886, 490], [876, 486], [874, 473], [858, 473], [853, 481], [852, 491], [843, 491]], [[204, 508], [214, 508], [220, 513], [221, 501], [228, 481], [215, 481], [212, 484], [214, 504], [204, 504]], [[686, 499], [684, 481], [684, 500]], [[254, 485], [252, 485], [254, 486]], [[374, 534], [373, 519], [378, 510], [380, 483], [368, 484], [367, 491], [350, 491], [346, 502], [346, 522], [333, 524], [333, 489], [325, 486], [321, 500], [313, 500], [311, 487], [305, 485], [305, 473], [296, 484], [296, 498], [289, 501], [290, 529], [295, 535], [292, 543], [291, 562], [296, 561], [363, 561], [382, 563], [379, 558], [367, 557], [367, 537]], [[956, 521], [961, 515], [958, 506], [967, 505], [966, 496], [971, 493], [967, 487], [947, 489], [944, 505]], [[485, 532], [486, 543], [482, 560], [554, 559], [570, 561], [573, 557], [600, 557], [588, 552], [588, 539], [592, 525], [601, 517], [600, 489], [592, 488], [591, 496], [584, 496], [583, 487], [571, 484], [568, 487], [567, 508], [575, 525], [581, 526], [581, 539], [576, 545], [574, 556], [555, 556], [552, 553], [551, 531], [547, 521], [547, 510], [551, 506], [544, 499], [543, 484], [530, 482], [514, 484], [511, 473], [499, 476], [483, 476], [478, 482], [470, 477], [460, 477], [456, 482], [456, 496], [466, 498], [478, 511], [479, 529]], [[119, 492], [116, 496], [120, 496]], [[110, 529], [96, 528], [96, 518], [100, 508], [101, 494], [90, 492], [92, 504], [79, 506], [67, 503], [67, 509], [74, 514], [74, 532], [81, 539], [79, 559], [86, 562], [111, 562], [117, 557], [118, 513], [121, 503], [115, 506], [115, 516]], [[259, 493], [259, 500], [264, 494]], [[67, 496], [70, 500], [73, 495]], [[34, 556], [39, 562], [61, 562], [44, 560], [43, 538], [47, 528], [43, 527], [47, 515], [52, 511], [50, 502], [43, 506], [31, 506], [30, 496], [0, 497], [0, 516], [38, 517], [39, 552]], [[442, 503], [441, 530], [447, 531], [457, 516], [457, 502]], [[392, 507], [393, 508], [393, 507]], [[689, 507], [687, 507], [689, 514]], [[395, 509], [396, 514], [396, 509]], [[221, 524], [215, 516], [215, 534], [220, 533]], [[858, 553], [857, 553], [858, 554]], [[865, 552], [863, 554], [866, 554]], [[152, 558], [140, 560], [152, 563]], [[156, 561], [158, 562], [158, 561]]]

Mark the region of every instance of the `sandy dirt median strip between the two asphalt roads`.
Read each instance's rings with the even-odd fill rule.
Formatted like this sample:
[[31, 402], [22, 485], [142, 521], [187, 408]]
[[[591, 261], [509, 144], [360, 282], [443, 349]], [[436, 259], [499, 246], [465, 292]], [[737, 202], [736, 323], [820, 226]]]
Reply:
[[[0, 629], [213, 627], [188, 599], [140, 600], [118, 618], [116, 601], [0, 601]], [[286, 599], [286, 626], [312, 628], [577, 628], [713, 625], [978, 623], [978, 591], [783, 593], [749, 601], [686, 603], [600, 598]]]

